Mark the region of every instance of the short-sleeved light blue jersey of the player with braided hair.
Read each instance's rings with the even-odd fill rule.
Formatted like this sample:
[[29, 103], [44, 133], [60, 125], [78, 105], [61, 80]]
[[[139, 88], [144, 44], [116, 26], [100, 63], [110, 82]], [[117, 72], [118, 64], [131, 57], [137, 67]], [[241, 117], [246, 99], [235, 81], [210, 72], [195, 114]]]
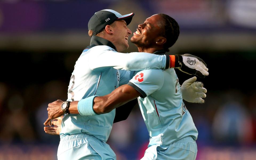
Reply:
[[198, 131], [182, 101], [174, 69], [131, 71], [131, 75], [134, 77], [128, 84], [142, 94], [138, 102], [149, 131], [149, 146], [170, 145], [187, 136], [197, 139]]

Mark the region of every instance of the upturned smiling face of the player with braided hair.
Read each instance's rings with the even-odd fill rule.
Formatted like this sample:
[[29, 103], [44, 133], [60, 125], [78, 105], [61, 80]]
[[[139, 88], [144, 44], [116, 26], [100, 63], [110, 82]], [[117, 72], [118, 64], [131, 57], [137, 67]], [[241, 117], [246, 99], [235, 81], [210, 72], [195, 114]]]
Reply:
[[161, 35], [162, 24], [164, 23], [161, 15], [152, 15], [143, 24], [138, 25], [137, 31], [131, 37], [131, 42], [137, 47], [156, 45], [157, 37]]

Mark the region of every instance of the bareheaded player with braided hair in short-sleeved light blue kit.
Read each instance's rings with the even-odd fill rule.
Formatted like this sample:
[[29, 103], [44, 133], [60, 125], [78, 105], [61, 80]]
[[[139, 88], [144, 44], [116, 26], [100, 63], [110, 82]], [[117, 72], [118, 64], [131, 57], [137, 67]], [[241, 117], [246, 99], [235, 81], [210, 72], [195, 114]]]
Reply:
[[[166, 14], [156, 14], [138, 26], [131, 42], [138, 47], [139, 52], [164, 54], [174, 45], [178, 36], [178, 23]], [[181, 94], [175, 70], [153, 69], [133, 73], [134, 77], [127, 85], [102, 100], [111, 97], [111, 102], [106, 100], [104, 104], [114, 106], [120, 103], [119, 99], [127, 101], [139, 97], [139, 107], [150, 135], [148, 149], [142, 159], [195, 159], [198, 131], [182, 101], [185, 95]], [[96, 98], [94, 102], [99, 101]], [[95, 103], [95, 106], [101, 105]]]

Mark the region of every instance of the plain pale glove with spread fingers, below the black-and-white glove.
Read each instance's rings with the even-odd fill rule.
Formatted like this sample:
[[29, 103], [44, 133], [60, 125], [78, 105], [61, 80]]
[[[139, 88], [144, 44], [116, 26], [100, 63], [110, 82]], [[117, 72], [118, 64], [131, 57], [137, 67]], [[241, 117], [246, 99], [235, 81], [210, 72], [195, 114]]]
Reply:
[[181, 86], [182, 98], [187, 102], [204, 103], [202, 98], [206, 97], [207, 90], [203, 88], [202, 82], [195, 82], [197, 77], [192, 77], [183, 82]]

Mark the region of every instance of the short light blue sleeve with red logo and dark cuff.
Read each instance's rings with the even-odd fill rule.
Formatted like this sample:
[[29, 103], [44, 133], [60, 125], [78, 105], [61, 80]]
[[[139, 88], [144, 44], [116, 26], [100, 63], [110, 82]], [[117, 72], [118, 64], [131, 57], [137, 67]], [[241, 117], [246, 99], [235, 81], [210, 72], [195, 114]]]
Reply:
[[128, 83], [145, 98], [160, 90], [163, 86], [163, 73], [161, 69], [139, 71]]

